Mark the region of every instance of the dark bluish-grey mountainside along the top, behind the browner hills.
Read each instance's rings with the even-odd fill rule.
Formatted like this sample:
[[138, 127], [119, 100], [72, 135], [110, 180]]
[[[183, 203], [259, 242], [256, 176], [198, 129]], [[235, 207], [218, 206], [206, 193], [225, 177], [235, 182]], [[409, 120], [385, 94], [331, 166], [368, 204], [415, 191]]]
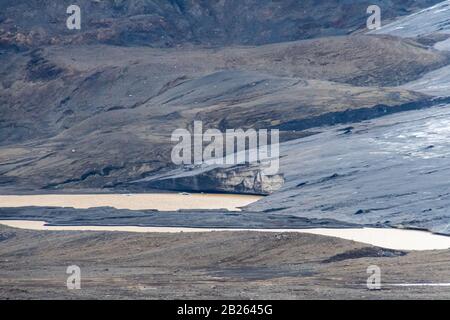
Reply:
[[349, 34], [365, 27], [372, 4], [392, 19], [439, 1], [77, 0], [82, 29], [69, 31], [66, 8], [73, 2], [1, 1], [0, 45], [259, 45]]

